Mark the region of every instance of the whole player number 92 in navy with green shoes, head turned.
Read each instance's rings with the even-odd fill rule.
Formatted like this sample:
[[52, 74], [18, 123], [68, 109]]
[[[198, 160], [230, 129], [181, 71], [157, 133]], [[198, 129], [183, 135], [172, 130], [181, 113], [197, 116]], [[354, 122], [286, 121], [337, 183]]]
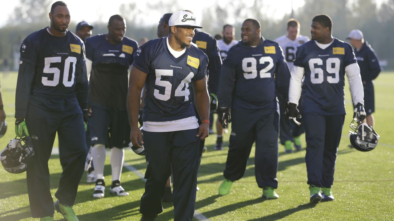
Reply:
[[219, 195], [228, 194], [233, 182], [242, 178], [256, 142], [255, 175], [263, 189], [262, 196], [279, 197], [274, 190], [278, 186], [276, 97], [278, 92], [287, 99], [290, 70], [279, 44], [264, 39], [260, 32], [258, 20], [246, 19], [241, 28], [242, 41], [230, 48], [222, 66], [217, 114], [224, 128], [231, 120], [232, 124], [225, 179]]

